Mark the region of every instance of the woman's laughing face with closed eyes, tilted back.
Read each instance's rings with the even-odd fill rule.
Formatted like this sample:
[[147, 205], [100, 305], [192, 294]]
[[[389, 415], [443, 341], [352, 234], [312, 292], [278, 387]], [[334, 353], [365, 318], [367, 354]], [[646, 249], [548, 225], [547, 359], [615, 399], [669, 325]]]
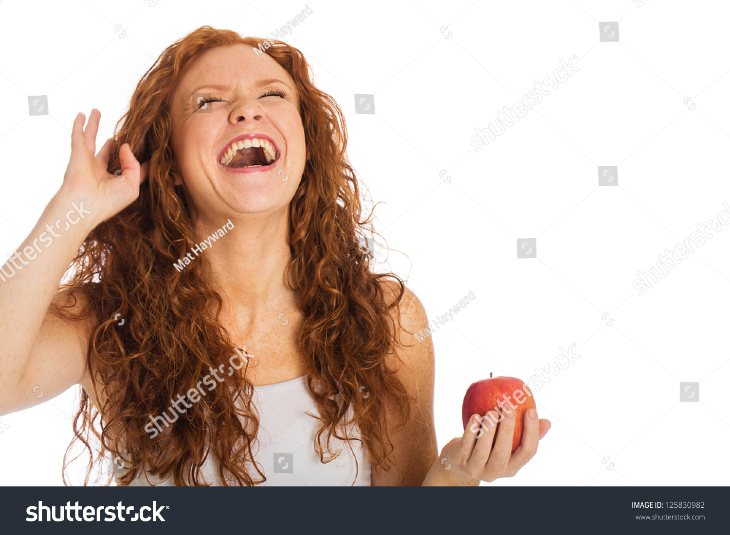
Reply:
[[[173, 158], [194, 216], [217, 224], [288, 205], [304, 171], [304, 128], [293, 79], [269, 55], [244, 44], [208, 50], [183, 75], [170, 108]], [[251, 139], [226, 158], [231, 141], [250, 134], [269, 139], [268, 155]]]

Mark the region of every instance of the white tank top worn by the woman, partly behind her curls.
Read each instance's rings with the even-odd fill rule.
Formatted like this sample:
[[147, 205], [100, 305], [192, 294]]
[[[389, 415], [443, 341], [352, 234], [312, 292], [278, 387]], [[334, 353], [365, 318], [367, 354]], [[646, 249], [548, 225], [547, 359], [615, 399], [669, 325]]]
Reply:
[[[339, 396], [339, 394], [338, 394]], [[266, 481], [255, 486], [369, 486], [370, 458], [364, 444], [358, 440], [339, 440], [334, 435], [327, 450], [327, 432], [320, 435], [324, 458], [341, 451], [337, 458], [322, 463], [315, 451], [315, 434], [321, 425], [316, 418], [305, 413], [318, 414], [314, 398], [307, 389], [307, 375], [298, 378], [253, 387], [252, 403], [258, 410], [259, 426], [257, 440], [252, 441], [251, 450], [255, 461], [263, 469]], [[347, 418], [352, 418], [353, 407]], [[171, 423], [170, 425], [174, 425]], [[242, 422], [242, 425], [244, 423]], [[342, 434], [342, 431], [338, 431]], [[356, 424], [347, 427], [347, 437], [361, 437]], [[352, 448], [350, 450], [350, 448]], [[353, 455], [354, 452], [354, 455]], [[126, 472], [123, 461], [111, 466], [115, 480]], [[357, 466], [356, 466], [357, 461]], [[258, 479], [259, 475], [247, 464], [248, 473]], [[218, 478], [218, 459], [210, 452], [201, 474], [206, 483], [223, 486]], [[159, 476], [138, 472], [130, 486], [173, 486], [173, 477], [161, 480]], [[150, 483], [147, 483], [149, 478]], [[235, 485], [236, 482], [229, 483]]]

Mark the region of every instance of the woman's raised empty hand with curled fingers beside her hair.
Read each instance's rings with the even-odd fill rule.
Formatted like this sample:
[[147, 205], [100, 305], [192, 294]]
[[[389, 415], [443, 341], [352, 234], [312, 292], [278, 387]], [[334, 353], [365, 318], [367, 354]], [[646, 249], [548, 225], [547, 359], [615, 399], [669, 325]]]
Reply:
[[107, 139], [99, 154], [96, 150], [96, 131], [99, 129], [101, 112], [92, 109], [84, 129], [85, 116], [77, 114], [71, 133], [71, 159], [64, 175], [61, 190], [64, 195], [78, 202], [88, 199], [87, 205], [96, 224], [117, 214], [139, 196], [139, 184], [147, 179], [150, 163], [139, 165], [128, 143], [119, 149], [121, 171], [117, 175], [107, 173], [114, 143]]

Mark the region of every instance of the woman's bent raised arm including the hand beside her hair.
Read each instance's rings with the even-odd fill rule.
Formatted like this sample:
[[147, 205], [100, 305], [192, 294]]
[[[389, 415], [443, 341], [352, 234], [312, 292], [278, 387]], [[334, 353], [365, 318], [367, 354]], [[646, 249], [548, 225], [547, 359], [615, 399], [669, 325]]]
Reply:
[[[149, 163], [140, 166], [129, 145], [123, 144], [119, 157], [126, 180], [107, 172], [114, 140], [107, 140], [94, 157], [100, 115], [93, 110], [84, 129], [85, 117], [77, 114], [64, 183], [19, 252], [2, 267], [0, 414], [38, 405], [88, 378], [90, 324], [62, 319], [49, 305], [67, 304], [71, 292], [56, 290], [85, 237], [137, 198], [139, 183], [149, 171]], [[83, 304], [82, 296], [76, 297], [72, 313]]]

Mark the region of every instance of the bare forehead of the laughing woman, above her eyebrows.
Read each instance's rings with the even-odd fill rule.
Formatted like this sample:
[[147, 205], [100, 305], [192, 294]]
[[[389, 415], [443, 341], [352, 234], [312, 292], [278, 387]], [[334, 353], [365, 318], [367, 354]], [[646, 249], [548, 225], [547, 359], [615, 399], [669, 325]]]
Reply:
[[[234, 44], [207, 50], [188, 66], [177, 84], [173, 101], [185, 106], [193, 93], [210, 93], [223, 86], [231, 89], [255, 89], [263, 80], [280, 79], [295, 93], [296, 86], [288, 72], [266, 53], [256, 55], [253, 47]], [[201, 86], [220, 86], [216, 88]], [[201, 89], [200, 89], [201, 88]]]

